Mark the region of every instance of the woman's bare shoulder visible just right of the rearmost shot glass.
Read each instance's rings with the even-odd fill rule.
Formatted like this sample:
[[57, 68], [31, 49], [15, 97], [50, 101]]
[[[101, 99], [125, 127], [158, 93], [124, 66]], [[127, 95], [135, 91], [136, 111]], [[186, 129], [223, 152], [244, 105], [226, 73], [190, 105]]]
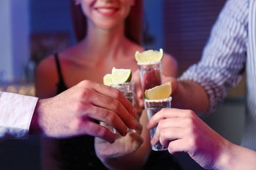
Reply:
[[171, 54], [164, 53], [162, 59], [162, 71], [167, 76], [177, 76], [178, 62]]

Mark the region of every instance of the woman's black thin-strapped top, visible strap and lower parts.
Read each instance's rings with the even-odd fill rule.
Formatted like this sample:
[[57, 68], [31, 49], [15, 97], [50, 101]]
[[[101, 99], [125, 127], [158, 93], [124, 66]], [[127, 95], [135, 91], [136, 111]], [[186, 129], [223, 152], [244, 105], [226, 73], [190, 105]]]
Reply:
[[[58, 69], [59, 80], [56, 84], [57, 94], [67, 90], [67, 86], [64, 83], [62, 76], [60, 63], [58, 61], [58, 54], [54, 54], [56, 61], [56, 67]], [[64, 169], [107, 169], [103, 163], [98, 159], [95, 153], [94, 147], [95, 137], [85, 135], [81, 137], [74, 137], [72, 139], [59, 139], [60, 154], [62, 160], [60, 165], [64, 166]], [[131, 161], [132, 163], [132, 161]], [[154, 151], [150, 153], [146, 165], [143, 170], [181, 170], [179, 163], [175, 160], [168, 151]]]

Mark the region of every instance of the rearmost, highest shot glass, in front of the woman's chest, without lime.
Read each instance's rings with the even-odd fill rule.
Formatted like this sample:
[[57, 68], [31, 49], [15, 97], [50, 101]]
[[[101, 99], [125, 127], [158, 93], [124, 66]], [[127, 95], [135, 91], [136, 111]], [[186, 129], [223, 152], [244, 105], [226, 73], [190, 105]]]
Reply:
[[142, 92], [161, 85], [161, 61], [138, 63], [138, 65], [140, 70]]

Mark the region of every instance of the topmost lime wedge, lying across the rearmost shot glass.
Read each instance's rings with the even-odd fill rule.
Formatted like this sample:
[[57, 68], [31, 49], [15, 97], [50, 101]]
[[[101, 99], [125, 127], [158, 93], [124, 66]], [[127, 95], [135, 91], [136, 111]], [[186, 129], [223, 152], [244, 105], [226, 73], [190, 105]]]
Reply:
[[144, 52], [135, 52], [135, 59], [139, 63], [148, 63], [161, 61], [163, 58], [163, 49], [160, 48], [160, 51], [156, 50], [146, 50]]

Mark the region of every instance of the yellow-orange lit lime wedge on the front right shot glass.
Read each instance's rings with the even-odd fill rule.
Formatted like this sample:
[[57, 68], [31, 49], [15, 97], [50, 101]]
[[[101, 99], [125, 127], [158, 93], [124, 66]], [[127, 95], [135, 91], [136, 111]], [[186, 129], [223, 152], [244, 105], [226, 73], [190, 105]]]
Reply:
[[167, 99], [170, 97], [172, 91], [171, 84], [163, 84], [154, 88], [145, 90], [145, 97], [149, 100]]

